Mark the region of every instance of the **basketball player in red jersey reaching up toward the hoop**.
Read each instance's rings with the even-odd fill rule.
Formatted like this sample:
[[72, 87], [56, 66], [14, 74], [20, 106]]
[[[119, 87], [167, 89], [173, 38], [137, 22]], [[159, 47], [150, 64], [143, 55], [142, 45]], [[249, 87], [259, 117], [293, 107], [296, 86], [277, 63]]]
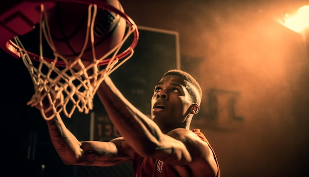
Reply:
[[199, 129], [190, 130], [202, 97], [199, 84], [190, 74], [170, 70], [163, 75], [154, 87], [151, 118], [124, 98], [109, 77], [97, 94], [122, 136], [110, 142], [80, 142], [56, 116], [47, 125], [65, 164], [113, 166], [132, 162], [135, 177], [220, 176], [207, 139]]

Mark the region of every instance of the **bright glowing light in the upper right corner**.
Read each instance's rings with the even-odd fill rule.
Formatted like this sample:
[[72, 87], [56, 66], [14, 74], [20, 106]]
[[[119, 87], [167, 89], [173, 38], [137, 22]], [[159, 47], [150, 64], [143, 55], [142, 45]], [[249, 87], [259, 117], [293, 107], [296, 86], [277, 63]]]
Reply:
[[285, 15], [284, 19], [285, 27], [293, 30], [297, 33], [301, 33], [303, 30], [309, 27], [309, 5], [304, 5], [298, 9], [297, 13], [292, 16]]

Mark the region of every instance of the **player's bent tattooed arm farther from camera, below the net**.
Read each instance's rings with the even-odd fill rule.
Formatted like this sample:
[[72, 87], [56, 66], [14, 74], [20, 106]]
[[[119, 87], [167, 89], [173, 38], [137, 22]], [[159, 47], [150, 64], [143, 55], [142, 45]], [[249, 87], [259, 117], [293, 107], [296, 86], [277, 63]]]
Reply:
[[112, 166], [131, 160], [130, 147], [119, 137], [110, 142], [78, 141], [60, 116], [47, 121], [56, 152], [66, 165]]

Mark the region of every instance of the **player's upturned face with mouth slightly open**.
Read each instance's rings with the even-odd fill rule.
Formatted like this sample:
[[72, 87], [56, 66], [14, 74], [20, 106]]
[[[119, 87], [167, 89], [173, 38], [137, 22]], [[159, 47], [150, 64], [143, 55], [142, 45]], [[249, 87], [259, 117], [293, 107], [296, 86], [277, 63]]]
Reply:
[[167, 75], [155, 86], [151, 118], [161, 129], [183, 127], [192, 105], [185, 82], [179, 76]]

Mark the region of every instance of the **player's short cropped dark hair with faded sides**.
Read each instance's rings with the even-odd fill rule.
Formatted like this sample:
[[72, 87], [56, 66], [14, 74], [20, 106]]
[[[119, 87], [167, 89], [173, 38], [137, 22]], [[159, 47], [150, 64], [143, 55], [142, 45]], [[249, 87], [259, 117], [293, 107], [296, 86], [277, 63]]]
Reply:
[[182, 70], [172, 69], [172, 70], [165, 72], [162, 78], [167, 75], [179, 76], [183, 78], [185, 81], [187, 81], [188, 85], [186, 85], [185, 87], [190, 93], [192, 102], [200, 105], [201, 99], [202, 99], [202, 88], [199, 86], [198, 82], [193, 78], [191, 74], [185, 71], [182, 71]]

